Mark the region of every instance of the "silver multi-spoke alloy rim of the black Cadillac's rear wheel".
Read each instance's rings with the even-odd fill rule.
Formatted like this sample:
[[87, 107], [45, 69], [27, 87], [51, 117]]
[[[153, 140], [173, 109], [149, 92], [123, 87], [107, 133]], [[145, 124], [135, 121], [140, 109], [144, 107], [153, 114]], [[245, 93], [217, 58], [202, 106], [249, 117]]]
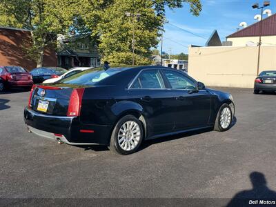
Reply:
[[121, 149], [130, 151], [136, 148], [141, 139], [141, 129], [135, 121], [126, 121], [118, 133], [118, 143]]

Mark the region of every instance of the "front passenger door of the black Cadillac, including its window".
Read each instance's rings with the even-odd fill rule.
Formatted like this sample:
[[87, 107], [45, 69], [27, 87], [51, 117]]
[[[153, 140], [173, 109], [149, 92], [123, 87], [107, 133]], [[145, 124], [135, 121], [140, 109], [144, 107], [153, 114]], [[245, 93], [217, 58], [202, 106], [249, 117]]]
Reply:
[[162, 70], [170, 85], [170, 97], [175, 106], [175, 130], [208, 126], [210, 93], [197, 90], [195, 80], [177, 70]]

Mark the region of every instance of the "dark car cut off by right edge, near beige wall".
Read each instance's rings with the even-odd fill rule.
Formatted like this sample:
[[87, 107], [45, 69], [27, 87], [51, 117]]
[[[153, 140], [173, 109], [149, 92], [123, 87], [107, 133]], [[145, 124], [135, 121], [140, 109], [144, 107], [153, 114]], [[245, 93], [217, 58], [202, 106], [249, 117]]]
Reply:
[[259, 74], [255, 79], [254, 93], [276, 92], [276, 70], [267, 70]]

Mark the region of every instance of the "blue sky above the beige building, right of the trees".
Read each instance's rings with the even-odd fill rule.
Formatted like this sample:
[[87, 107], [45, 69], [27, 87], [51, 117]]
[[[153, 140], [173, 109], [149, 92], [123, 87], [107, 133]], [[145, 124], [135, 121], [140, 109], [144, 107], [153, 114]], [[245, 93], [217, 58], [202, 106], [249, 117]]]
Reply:
[[[180, 52], [188, 53], [188, 45], [205, 46], [206, 41], [217, 30], [221, 41], [226, 40], [226, 36], [237, 31], [239, 23], [245, 21], [248, 26], [255, 23], [256, 14], [261, 10], [253, 9], [254, 3], [263, 5], [264, 1], [259, 0], [201, 0], [202, 11], [199, 17], [190, 13], [187, 3], [183, 8], [166, 10], [166, 19], [169, 23], [165, 25], [163, 51], [172, 55]], [[276, 0], [270, 0], [267, 7], [273, 14], [276, 13]], [[264, 18], [267, 15], [264, 15]], [[172, 26], [172, 25], [174, 26]], [[197, 34], [189, 34], [179, 28]], [[158, 48], [161, 50], [161, 43]]]

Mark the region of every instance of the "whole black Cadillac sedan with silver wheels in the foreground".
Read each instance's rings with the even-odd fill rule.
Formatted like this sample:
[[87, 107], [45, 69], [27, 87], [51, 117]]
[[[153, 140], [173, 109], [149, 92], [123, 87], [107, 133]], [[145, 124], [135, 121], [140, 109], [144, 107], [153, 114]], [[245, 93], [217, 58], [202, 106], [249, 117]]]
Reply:
[[158, 66], [93, 68], [33, 86], [24, 111], [29, 132], [71, 145], [100, 144], [128, 155], [141, 141], [201, 128], [225, 131], [232, 95]]

